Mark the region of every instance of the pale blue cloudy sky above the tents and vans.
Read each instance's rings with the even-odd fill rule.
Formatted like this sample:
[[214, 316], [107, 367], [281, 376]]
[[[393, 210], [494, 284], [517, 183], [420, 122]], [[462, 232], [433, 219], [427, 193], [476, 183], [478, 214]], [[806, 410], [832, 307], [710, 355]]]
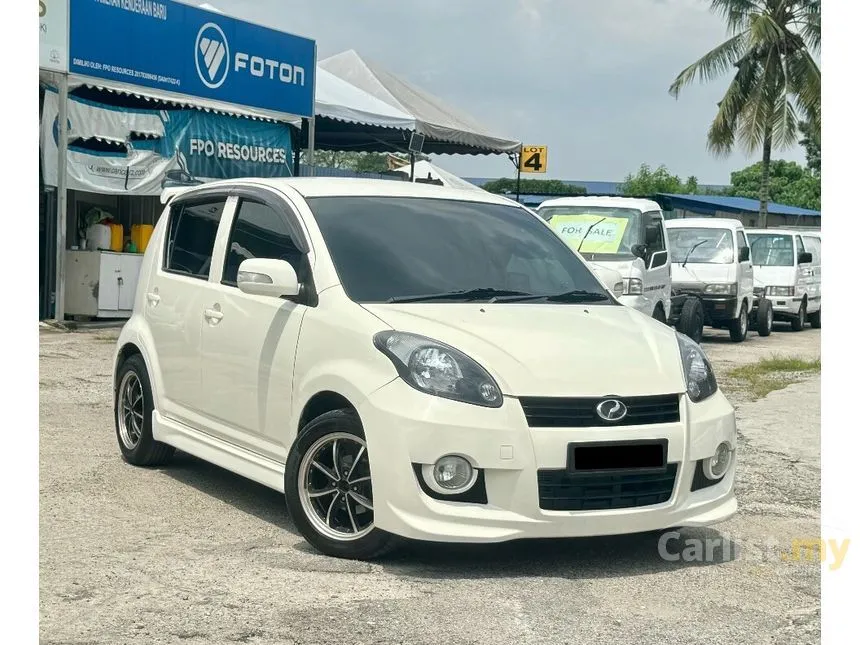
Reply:
[[[204, 3], [186, 0], [189, 4]], [[621, 180], [666, 164], [728, 183], [757, 161], [713, 157], [705, 135], [728, 77], [678, 101], [677, 73], [721, 42], [708, 0], [210, 0], [238, 18], [347, 49], [471, 114], [491, 131], [549, 146], [544, 178]], [[803, 162], [802, 149], [776, 158]], [[504, 157], [444, 156], [461, 176], [512, 176]]]

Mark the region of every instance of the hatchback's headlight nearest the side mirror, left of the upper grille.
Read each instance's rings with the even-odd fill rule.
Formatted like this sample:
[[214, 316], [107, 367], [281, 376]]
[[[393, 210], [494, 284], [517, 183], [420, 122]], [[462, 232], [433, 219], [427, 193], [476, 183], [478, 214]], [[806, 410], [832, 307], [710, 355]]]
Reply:
[[502, 391], [493, 377], [453, 347], [399, 331], [379, 332], [373, 344], [416, 390], [488, 408], [502, 406]]

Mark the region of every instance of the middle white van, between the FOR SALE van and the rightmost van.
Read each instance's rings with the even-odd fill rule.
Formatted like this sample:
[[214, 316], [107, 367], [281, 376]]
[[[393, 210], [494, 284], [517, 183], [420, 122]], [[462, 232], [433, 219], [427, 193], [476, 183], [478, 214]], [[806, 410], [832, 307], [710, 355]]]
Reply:
[[[702, 301], [704, 323], [728, 327], [741, 342], [752, 325], [770, 335], [773, 311], [755, 306], [753, 266], [744, 226], [735, 219], [693, 217], [666, 222], [672, 261], [672, 290]], [[750, 312], [757, 317], [751, 319]]]

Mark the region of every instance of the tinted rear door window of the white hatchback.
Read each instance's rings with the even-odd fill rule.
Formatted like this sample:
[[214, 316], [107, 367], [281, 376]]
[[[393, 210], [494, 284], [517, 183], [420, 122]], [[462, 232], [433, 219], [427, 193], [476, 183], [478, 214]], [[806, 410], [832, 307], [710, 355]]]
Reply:
[[170, 211], [164, 268], [208, 279], [225, 199], [177, 204]]

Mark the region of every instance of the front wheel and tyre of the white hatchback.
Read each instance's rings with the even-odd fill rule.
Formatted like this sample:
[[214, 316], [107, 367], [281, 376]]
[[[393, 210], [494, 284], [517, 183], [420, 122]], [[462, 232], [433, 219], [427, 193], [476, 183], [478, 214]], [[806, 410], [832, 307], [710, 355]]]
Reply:
[[396, 545], [395, 536], [373, 525], [367, 443], [351, 410], [326, 412], [299, 431], [287, 457], [284, 496], [302, 537], [325, 555], [371, 560]]

